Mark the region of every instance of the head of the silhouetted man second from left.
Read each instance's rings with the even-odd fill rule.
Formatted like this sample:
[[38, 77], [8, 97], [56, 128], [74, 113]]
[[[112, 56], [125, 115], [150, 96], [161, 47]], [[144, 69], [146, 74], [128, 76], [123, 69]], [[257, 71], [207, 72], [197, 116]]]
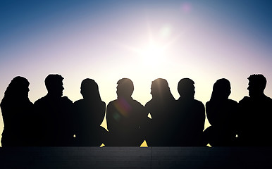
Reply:
[[45, 87], [47, 87], [47, 92], [53, 96], [62, 96], [63, 92], [63, 77], [61, 75], [48, 75], [45, 80]]

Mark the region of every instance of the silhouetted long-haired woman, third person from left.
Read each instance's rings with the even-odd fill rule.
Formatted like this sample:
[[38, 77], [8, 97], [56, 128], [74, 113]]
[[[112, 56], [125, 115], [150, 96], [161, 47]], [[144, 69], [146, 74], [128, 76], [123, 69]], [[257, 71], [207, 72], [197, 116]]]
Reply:
[[106, 129], [101, 127], [104, 120], [106, 104], [101, 101], [97, 83], [85, 79], [81, 83], [80, 93], [83, 99], [74, 103], [76, 146], [100, 146], [105, 144]]

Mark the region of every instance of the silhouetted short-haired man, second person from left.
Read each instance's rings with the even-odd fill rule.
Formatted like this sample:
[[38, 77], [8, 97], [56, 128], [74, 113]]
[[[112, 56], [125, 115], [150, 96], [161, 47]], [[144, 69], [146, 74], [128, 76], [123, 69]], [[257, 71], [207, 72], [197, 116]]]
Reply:
[[45, 78], [47, 95], [35, 101], [39, 114], [39, 146], [70, 146], [73, 144], [73, 102], [63, 95], [63, 77], [48, 75]]

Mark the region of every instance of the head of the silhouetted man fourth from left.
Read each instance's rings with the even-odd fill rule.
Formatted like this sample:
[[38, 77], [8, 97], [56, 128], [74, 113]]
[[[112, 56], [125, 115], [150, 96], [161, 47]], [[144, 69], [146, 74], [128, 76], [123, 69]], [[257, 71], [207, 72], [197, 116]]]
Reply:
[[134, 91], [133, 82], [128, 78], [123, 78], [117, 82], [116, 94], [118, 97], [129, 98]]

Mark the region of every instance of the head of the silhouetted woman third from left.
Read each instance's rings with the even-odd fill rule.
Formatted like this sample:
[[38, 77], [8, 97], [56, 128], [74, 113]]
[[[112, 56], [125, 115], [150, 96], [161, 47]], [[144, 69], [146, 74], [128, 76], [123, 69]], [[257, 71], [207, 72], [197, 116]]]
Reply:
[[80, 93], [84, 99], [99, 99], [101, 100], [97, 82], [92, 79], [85, 79], [81, 82]]

